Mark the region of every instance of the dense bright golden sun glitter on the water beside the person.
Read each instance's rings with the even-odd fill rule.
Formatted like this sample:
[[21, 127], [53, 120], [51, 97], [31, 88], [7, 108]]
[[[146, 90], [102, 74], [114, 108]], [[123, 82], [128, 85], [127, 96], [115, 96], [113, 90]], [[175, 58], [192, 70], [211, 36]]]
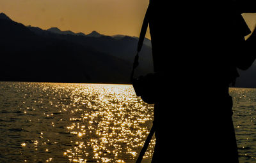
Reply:
[[[70, 118], [73, 123], [67, 129], [79, 139], [64, 152], [70, 162], [126, 162], [136, 158], [148, 134], [152, 106], [141, 103], [131, 85], [76, 89], [72, 99], [72, 106], [83, 104], [83, 109], [70, 110], [76, 116]], [[150, 151], [145, 157], [151, 157]]]

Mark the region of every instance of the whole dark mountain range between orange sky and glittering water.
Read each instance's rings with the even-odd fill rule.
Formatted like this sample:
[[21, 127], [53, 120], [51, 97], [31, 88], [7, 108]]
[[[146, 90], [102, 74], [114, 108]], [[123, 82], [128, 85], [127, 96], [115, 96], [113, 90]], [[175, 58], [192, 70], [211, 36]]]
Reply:
[[[0, 81], [129, 83], [133, 59], [125, 60], [121, 55], [124, 50], [111, 48], [122, 45], [133, 50], [136, 43], [124, 45], [127, 38], [118, 41], [110, 36], [95, 38], [73, 33], [26, 27], [1, 14]], [[135, 55], [132, 50], [131, 58]], [[146, 71], [145, 67], [138, 69], [140, 74]]]

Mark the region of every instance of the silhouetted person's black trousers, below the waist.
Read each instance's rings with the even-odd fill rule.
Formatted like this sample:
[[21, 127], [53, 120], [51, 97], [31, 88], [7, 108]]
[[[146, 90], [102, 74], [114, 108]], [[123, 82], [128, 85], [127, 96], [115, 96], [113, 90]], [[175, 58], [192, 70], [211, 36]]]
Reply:
[[152, 162], [239, 162], [230, 96], [197, 107], [166, 103], [155, 104]]

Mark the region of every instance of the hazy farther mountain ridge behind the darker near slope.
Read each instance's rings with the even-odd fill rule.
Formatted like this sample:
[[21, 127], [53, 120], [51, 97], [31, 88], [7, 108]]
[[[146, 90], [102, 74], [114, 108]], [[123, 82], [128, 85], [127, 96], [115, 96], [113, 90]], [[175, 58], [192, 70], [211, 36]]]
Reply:
[[[125, 62], [133, 63], [134, 55], [136, 54], [138, 37], [131, 36], [105, 36], [103, 34], [99, 34], [99, 32], [93, 31], [86, 36], [77, 34], [64, 34], [58, 28], [51, 28], [51, 30], [43, 30], [39, 27], [31, 27], [28, 28], [35, 32], [38, 36], [42, 36], [44, 38], [49, 39], [61, 39], [66, 41], [71, 41], [72, 43], [76, 43], [79, 45], [83, 45], [84, 47], [93, 48], [95, 51], [108, 53], [113, 57], [117, 57], [118, 59], [125, 60]], [[55, 31], [55, 32], [53, 32]], [[152, 52], [150, 46], [149, 39], [145, 39], [145, 43], [140, 52], [140, 69], [141, 71], [138, 74], [150, 73], [153, 71], [153, 61], [152, 61]], [[143, 72], [142, 72], [143, 71]]]

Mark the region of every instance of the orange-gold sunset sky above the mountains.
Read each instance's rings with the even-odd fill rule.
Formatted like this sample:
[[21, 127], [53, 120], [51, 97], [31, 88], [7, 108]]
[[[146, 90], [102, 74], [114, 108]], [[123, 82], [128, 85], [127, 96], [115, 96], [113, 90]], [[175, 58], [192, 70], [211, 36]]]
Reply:
[[[138, 36], [147, 5], [148, 0], [0, 0], [0, 13], [42, 29]], [[256, 15], [244, 18], [253, 29]]]

